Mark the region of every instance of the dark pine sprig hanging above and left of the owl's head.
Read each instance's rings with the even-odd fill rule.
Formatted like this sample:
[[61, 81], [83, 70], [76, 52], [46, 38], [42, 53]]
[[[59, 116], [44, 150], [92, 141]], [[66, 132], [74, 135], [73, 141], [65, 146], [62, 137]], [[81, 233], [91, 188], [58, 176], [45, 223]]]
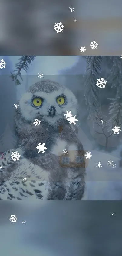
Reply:
[[13, 73], [11, 72], [11, 78], [12, 81], [15, 81], [16, 85], [21, 85], [21, 82], [19, 81], [19, 79], [17, 78], [18, 76], [22, 79], [21, 76], [21, 70], [25, 70], [25, 72], [27, 72], [28, 70], [28, 64], [31, 65], [31, 62], [34, 61], [35, 59], [35, 55], [22, 55], [21, 58], [19, 59], [19, 63], [15, 64], [16, 69], [13, 71]]

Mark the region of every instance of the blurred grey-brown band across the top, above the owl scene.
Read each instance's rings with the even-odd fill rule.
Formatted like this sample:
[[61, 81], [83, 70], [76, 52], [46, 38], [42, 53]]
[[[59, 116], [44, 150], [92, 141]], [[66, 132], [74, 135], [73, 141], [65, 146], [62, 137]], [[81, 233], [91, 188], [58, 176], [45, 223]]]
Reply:
[[[121, 55], [121, 10], [121, 0], [1, 0], [0, 54]], [[57, 22], [61, 33], [53, 29]]]

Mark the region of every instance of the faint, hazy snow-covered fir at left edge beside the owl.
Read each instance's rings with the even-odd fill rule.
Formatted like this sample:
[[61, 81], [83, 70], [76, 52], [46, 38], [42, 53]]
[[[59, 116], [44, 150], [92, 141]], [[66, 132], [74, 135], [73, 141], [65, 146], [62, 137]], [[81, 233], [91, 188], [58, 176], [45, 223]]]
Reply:
[[12, 133], [10, 126], [7, 124], [5, 132], [0, 136], [1, 152], [12, 149], [17, 143], [15, 135]]

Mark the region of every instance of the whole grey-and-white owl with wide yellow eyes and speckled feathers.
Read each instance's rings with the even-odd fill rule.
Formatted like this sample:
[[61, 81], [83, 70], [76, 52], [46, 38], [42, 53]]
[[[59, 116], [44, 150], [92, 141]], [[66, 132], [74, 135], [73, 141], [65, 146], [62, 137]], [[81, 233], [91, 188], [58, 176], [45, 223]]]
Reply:
[[[77, 138], [77, 122], [70, 124], [64, 115], [71, 111], [78, 117], [76, 97], [57, 82], [42, 80], [29, 87], [18, 105], [18, 142], [2, 156], [0, 200], [81, 200], [84, 149]], [[35, 119], [40, 125], [34, 125]], [[39, 143], [45, 150], [38, 149]], [[19, 160], [12, 159], [13, 152], [20, 154]]]

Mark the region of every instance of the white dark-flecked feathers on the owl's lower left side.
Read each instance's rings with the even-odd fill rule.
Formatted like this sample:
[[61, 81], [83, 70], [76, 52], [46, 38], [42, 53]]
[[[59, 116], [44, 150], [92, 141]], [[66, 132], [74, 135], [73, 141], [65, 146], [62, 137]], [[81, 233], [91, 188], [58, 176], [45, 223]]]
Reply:
[[[24, 181], [24, 178], [27, 180]], [[0, 200], [46, 200], [48, 191], [48, 172], [22, 159], [13, 171], [11, 180], [0, 187]]]

